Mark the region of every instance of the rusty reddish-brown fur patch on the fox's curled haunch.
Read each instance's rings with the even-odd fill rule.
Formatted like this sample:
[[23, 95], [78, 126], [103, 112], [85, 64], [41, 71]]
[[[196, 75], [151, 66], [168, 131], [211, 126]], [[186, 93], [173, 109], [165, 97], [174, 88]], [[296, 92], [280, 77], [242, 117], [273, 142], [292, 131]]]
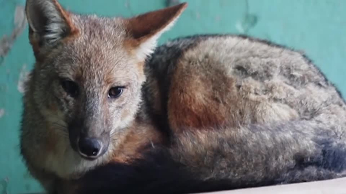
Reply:
[[244, 110], [255, 107], [256, 102], [242, 99], [236, 80], [218, 69], [210, 69], [212, 72], [207, 74], [194, 71], [196, 68], [200, 67], [185, 61], [176, 66], [169, 90], [169, 96], [174, 96], [168, 101], [170, 126], [181, 132], [186, 127], [236, 126], [248, 120], [244, 114], [249, 113]]

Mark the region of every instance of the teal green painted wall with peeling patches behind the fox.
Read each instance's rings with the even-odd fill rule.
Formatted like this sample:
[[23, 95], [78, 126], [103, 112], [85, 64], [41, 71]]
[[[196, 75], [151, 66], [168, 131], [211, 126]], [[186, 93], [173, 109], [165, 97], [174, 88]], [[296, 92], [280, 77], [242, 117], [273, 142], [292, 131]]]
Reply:
[[[68, 9], [105, 16], [133, 16], [160, 9], [166, 0], [60, 0]], [[247, 33], [306, 52], [346, 95], [345, 0], [186, 0], [189, 7], [163, 41], [195, 33]], [[33, 53], [27, 25], [9, 40], [20, 23], [24, 0], [0, 0], [0, 194], [39, 191], [19, 157], [21, 80]], [[247, 7], [248, 5], [248, 7]], [[15, 17], [16, 7], [19, 10]], [[6, 38], [6, 37], [7, 38]], [[5, 37], [5, 38], [4, 38]], [[6, 44], [7, 42], [7, 44]], [[5, 45], [5, 46], [4, 46]], [[6, 46], [7, 45], [7, 46]], [[3, 49], [8, 50], [4, 54]], [[2, 59], [2, 60], [1, 60]]]

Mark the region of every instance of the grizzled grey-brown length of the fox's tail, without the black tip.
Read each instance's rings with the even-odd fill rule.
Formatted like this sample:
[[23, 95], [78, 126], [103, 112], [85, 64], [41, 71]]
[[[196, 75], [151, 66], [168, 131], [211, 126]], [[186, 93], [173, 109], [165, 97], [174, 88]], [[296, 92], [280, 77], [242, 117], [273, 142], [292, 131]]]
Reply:
[[[325, 116], [326, 117], [326, 116]], [[237, 185], [326, 180], [346, 176], [344, 121], [318, 118], [185, 130], [172, 154], [201, 179]], [[331, 122], [333, 121], [333, 122]]]

